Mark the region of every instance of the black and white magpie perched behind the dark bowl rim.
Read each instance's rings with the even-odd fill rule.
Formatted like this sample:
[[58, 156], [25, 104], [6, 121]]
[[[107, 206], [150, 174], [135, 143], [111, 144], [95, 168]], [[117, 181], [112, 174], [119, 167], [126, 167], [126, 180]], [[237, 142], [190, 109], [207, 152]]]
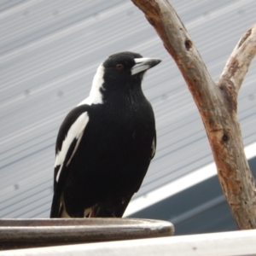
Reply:
[[127, 51], [97, 68], [90, 96], [67, 114], [56, 140], [50, 218], [123, 216], [154, 157], [142, 80], [159, 63]]

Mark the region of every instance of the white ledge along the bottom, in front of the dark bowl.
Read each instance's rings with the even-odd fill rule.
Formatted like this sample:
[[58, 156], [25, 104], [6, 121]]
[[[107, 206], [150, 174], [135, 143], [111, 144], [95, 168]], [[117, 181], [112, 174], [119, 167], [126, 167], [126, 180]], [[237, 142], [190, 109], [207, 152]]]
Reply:
[[256, 255], [256, 230], [243, 230], [193, 236], [172, 236], [131, 241], [108, 241], [60, 247], [4, 251], [4, 256], [242, 256]]

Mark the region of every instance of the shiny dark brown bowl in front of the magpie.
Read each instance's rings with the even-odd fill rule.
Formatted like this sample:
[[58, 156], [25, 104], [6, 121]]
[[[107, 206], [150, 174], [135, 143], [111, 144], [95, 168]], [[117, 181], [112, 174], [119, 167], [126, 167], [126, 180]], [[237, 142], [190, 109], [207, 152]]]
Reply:
[[0, 219], [0, 249], [172, 236], [170, 222], [143, 218]]

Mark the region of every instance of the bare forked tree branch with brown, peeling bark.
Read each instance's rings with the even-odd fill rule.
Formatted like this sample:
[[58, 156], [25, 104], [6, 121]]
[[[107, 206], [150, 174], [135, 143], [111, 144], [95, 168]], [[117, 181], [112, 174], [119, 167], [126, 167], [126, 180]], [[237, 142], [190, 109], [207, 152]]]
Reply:
[[207, 131], [219, 181], [238, 228], [256, 228], [254, 179], [244, 153], [236, 117], [237, 93], [256, 53], [256, 25], [236, 45], [215, 84], [168, 0], [132, 2], [154, 26], [189, 86]]

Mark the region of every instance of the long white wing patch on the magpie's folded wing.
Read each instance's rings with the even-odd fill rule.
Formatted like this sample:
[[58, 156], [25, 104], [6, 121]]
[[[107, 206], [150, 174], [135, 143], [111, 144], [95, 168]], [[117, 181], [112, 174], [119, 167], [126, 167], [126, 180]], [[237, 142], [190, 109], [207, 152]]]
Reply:
[[67, 165], [69, 165], [71, 159], [73, 158], [73, 154], [75, 154], [77, 148], [79, 147], [79, 143], [84, 134], [84, 128], [87, 125], [88, 121], [89, 121], [88, 113], [84, 112], [79, 115], [79, 118], [76, 119], [76, 121], [73, 123], [73, 125], [71, 125], [71, 127], [67, 131], [67, 136], [65, 137], [65, 140], [62, 143], [61, 151], [59, 151], [56, 154], [56, 158], [55, 158], [55, 167], [61, 166], [56, 175], [56, 182], [58, 182], [59, 180], [61, 169], [66, 159], [68, 148], [70, 147], [71, 143], [73, 143], [74, 139], [78, 140], [70, 159], [67, 161]]

